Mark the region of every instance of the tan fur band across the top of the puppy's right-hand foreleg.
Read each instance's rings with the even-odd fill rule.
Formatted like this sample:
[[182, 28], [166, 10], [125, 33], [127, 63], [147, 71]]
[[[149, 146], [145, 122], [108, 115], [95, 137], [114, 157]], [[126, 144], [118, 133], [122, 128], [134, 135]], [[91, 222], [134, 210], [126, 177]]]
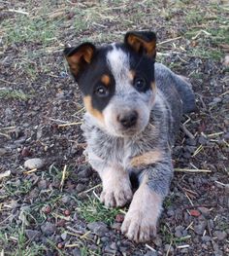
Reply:
[[147, 153], [134, 157], [130, 165], [133, 167], [155, 164], [162, 160], [162, 153], [159, 150], [148, 151]]

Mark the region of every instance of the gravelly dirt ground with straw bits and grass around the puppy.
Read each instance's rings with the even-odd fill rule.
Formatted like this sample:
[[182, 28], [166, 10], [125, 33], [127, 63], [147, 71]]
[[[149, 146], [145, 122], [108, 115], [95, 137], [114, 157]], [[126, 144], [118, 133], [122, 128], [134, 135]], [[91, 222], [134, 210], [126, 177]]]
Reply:
[[[0, 1], [0, 254], [229, 254], [227, 1]], [[99, 201], [82, 155], [81, 93], [63, 49], [157, 33], [157, 61], [187, 76], [198, 110], [183, 117], [158, 237], [120, 234], [127, 208]], [[24, 163], [39, 158], [42, 167]]]

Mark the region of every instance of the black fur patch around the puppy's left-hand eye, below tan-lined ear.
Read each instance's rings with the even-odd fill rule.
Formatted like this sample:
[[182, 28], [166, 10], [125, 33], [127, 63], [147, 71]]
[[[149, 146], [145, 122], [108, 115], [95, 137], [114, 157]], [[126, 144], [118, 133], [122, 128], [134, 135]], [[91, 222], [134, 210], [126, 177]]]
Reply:
[[[92, 107], [99, 111], [102, 111], [108, 105], [110, 99], [115, 94], [115, 78], [108, 67], [106, 58], [108, 51], [111, 49], [112, 46], [107, 46], [96, 50], [91, 63], [84, 70], [78, 82], [83, 96], [90, 95]], [[103, 75], [110, 77], [109, 86], [102, 83], [101, 78]], [[98, 90], [103, 87], [108, 93], [101, 96]]]

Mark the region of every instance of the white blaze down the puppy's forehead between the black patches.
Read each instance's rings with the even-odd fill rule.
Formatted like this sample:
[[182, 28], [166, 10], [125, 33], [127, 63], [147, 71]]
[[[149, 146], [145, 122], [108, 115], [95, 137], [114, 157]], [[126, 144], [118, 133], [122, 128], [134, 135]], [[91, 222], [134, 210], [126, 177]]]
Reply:
[[128, 86], [128, 74], [130, 71], [129, 56], [113, 45], [113, 50], [107, 54], [107, 62], [115, 77], [116, 90]]

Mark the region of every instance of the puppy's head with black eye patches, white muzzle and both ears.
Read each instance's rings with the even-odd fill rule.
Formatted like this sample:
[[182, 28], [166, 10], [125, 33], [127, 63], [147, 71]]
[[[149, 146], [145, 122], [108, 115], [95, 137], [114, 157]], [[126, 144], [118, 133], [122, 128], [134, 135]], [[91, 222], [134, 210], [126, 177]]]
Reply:
[[155, 34], [129, 32], [123, 44], [67, 48], [66, 58], [85, 108], [114, 136], [146, 128], [155, 96]]

